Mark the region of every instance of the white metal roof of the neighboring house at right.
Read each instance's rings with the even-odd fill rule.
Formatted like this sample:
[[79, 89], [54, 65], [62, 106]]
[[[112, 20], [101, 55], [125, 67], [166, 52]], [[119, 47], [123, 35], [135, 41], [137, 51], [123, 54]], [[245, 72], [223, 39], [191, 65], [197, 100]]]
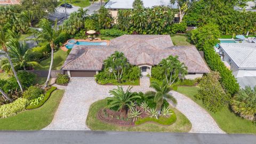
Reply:
[[256, 44], [222, 43], [220, 46], [238, 68], [256, 68]]

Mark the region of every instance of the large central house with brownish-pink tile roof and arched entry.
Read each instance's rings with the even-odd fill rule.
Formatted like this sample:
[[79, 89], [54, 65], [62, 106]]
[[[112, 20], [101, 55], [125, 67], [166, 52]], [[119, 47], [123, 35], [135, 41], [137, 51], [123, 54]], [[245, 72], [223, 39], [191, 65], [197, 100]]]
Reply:
[[61, 69], [70, 77], [93, 77], [115, 51], [123, 52], [131, 65], [140, 67], [142, 75], [151, 75], [151, 68], [169, 55], [178, 55], [188, 67], [186, 78], [210, 72], [195, 46], [174, 46], [170, 35], [123, 35], [112, 39], [108, 46], [76, 45]]

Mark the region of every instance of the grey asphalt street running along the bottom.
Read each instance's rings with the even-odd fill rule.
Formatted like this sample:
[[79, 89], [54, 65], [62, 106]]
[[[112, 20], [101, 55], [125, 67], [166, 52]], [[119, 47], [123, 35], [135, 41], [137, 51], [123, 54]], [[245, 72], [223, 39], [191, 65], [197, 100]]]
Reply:
[[152, 132], [100, 132], [100, 131], [0, 131], [1, 144], [35, 143], [218, 143], [255, 144], [256, 135], [250, 134], [197, 134]]

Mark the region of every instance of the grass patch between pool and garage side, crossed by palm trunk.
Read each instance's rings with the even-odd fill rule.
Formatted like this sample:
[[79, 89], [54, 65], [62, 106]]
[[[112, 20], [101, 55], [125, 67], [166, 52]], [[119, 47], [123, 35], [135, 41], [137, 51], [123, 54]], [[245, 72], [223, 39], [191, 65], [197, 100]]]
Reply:
[[[54, 58], [53, 58], [53, 66], [52, 69], [53, 70], [60, 70], [60, 68], [62, 67], [64, 61], [67, 58], [67, 52], [62, 51], [62, 50], [58, 50], [57, 52], [54, 52]], [[40, 68], [36, 68], [39, 70], [49, 70], [50, 67], [50, 63], [51, 63], [51, 57], [43, 60], [40, 62], [40, 65], [42, 67]]]

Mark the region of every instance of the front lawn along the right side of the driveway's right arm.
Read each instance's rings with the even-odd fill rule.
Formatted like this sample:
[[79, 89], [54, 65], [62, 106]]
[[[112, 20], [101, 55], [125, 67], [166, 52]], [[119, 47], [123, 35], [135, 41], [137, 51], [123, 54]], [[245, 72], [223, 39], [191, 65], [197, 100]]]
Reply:
[[[197, 93], [197, 87], [179, 86], [177, 91], [187, 95], [190, 99], [194, 100], [198, 105], [205, 108], [201, 100], [196, 100], [194, 98], [194, 95]], [[215, 119], [220, 128], [227, 133], [256, 134], [256, 124], [253, 124], [252, 122], [237, 116], [235, 113], [231, 112], [228, 107], [224, 107], [221, 111], [218, 111], [217, 113], [213, 113], [209, 110], [207, 111]]]

